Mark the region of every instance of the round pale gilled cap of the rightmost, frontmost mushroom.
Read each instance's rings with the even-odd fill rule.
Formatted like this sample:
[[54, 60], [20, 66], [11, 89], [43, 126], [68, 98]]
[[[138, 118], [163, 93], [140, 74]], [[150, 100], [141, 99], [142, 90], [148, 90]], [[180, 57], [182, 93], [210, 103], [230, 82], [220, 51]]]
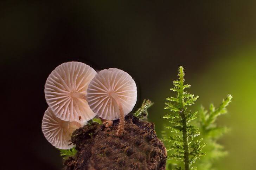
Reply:
[[110, 93], [116, 94], [124, 116], [132, 111], [137, 101], [137, 87], [133, 78], [117, 68], [98, 72], [87, 89], [87, 101], [92, 111], [107, 120], [120, 118], [119, 106]]

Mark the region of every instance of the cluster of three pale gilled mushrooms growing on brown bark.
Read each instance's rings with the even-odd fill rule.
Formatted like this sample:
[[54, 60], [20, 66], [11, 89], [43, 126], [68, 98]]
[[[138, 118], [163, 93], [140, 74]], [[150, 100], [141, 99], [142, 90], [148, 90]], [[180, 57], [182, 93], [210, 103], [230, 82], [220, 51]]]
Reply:
[[137, 100], [133, 78], [117, 68], [96, 72], [80, 62], [67, 62], [52, 71], [45, 83], [49, 107], [44, 113], [42, 131], [56, 148], [70, 149], [72, 132], [95, 116], [120, 119], [117, 136], [124, 131], [124, 116]]

